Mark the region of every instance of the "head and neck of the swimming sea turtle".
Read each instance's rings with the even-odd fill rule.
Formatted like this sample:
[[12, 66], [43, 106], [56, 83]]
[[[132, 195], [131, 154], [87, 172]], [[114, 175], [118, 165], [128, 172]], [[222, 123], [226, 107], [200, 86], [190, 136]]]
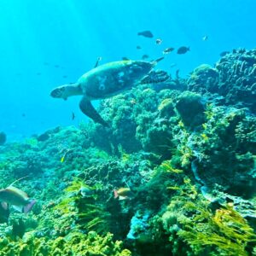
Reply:
[[81, 95], [81, 86], [79, 84], [64, 84], [56, 87], [50, 92], [50, 96], [54, 98], [62, 98], [65, 101], [69, 96]]

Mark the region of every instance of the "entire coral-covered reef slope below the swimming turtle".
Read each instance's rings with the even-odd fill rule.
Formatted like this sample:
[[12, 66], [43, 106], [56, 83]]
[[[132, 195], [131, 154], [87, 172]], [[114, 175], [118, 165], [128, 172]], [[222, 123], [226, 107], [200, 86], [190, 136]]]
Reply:
[[[1, 255], [256, 255], [256, 49], [102, 101], [111, 128], [0, 146]], [[130, 189], [115, 198], [113, 190]]]

